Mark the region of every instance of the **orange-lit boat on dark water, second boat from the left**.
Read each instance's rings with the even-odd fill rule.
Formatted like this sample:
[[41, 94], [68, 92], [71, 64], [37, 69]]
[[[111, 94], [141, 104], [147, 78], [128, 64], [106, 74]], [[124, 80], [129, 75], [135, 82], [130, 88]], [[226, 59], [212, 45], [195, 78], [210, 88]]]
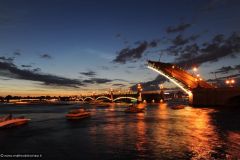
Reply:
[[87, 112], [82, 108], [71, 110], [68, 112], [68, 114], [66, 114], [66, 118], [69, 120], [83, 119], [90, 116], [91, 116], [90, 112]]

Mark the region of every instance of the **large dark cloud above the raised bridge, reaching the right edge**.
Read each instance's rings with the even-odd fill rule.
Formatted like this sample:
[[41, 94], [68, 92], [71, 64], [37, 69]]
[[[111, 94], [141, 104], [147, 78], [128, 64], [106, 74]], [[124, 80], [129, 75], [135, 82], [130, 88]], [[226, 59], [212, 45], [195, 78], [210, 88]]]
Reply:
[[[187, 64], [189, 62], [195, 65], [201, 65], [206, 62], [216, 62], [225, 57], [236, 57], [240, 53], [240, 35], [238, 33], [232, 33], [228, 38], [224, 38], [222, 35], [216, 35], [212, 41], [205, 43], [200, 48], [195, 44], [195, 54], [188, 52], [186, 48], [180, 50], [180, 55], [176, 58], [176, 62], [179, 65]], [[185, 53], [188, 53], [187, 57]]]

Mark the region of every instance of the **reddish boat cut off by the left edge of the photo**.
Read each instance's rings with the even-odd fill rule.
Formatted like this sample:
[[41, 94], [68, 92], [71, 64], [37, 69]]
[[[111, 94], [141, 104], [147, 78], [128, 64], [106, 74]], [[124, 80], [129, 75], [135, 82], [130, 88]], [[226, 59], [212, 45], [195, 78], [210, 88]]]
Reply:
[[25, 117], [13, 118], [12, 115], [7, 115], [0, 118], [0, 128], [8, 128], [13, 126], [19, 126], [28, 123], [31, 119]]

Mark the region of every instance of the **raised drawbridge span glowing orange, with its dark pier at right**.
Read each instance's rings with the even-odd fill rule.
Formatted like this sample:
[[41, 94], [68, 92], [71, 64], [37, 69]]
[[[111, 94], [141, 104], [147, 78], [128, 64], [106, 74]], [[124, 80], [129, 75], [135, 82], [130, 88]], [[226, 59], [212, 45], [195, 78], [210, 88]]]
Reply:
[[240, 105], [240, 88], [217, 88], [171, 63], [148, 61], [148, 68], [164, 76], [189, 95], [193, 106]]

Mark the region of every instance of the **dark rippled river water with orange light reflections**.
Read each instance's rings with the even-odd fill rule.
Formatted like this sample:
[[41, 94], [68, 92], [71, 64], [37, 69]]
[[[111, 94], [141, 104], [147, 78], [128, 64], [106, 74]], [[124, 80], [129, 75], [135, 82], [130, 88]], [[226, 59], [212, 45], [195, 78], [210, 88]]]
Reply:
[[0, 155], [38, 154], [41, 158], [24, 159], [49, 160], [240, 159], [240, 108], [173, 110], [167, 104], [148, 104], [145, 113], [129, 114], [124, 105], [81, 106], [92, 116], [68, 121], [65, 114], [79, 105], [0, 105], [0, 115], [31, 118], [27, 125], [0, 130]]

